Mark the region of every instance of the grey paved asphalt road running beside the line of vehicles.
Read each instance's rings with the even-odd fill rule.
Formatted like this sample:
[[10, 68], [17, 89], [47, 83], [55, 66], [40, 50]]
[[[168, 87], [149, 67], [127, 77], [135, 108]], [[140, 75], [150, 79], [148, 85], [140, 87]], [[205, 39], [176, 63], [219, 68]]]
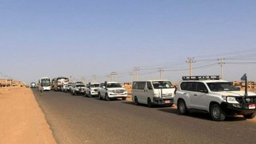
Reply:
[[256, 143], [256, 123], [33, 89], [58, 143]]

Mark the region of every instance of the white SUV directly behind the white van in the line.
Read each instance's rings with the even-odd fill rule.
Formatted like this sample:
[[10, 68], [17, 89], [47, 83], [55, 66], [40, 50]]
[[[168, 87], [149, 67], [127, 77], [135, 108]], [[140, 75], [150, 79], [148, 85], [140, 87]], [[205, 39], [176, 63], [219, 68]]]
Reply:
[[102, 82], [98, 87], [98, 98], [104, 98], [106, 101], [117, 98], [126, 100], [127, 91], [118, 82]]

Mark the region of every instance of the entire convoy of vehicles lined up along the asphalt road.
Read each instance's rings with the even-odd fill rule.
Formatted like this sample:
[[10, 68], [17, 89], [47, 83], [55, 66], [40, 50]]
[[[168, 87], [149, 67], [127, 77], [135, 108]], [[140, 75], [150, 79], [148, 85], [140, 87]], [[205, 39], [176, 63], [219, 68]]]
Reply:
[[[47, 77], [39, 79], [39, 90], [62, 90], [72, 95], [81, 94], [89, 98], [127, 99], [127, 91], [118, 82], [87, 83], [68, 82], [68, 78], [58, 77], [51, 81]], [[35, 82], [30, 84], [35, 88]], [[134, 81], [132, 84], [132, 100], [135, 105], [177, 105], [181, 115], [190, 110], [205, 111], [215, 121], [222, 121], [227, 116], [243, 115], [254, 118], [256, 115], [256, 94], [244, 92], [230, 82], [220, 80], [219, 76], [182, 77], [175, 89], [171, 81], [150, 80]]]

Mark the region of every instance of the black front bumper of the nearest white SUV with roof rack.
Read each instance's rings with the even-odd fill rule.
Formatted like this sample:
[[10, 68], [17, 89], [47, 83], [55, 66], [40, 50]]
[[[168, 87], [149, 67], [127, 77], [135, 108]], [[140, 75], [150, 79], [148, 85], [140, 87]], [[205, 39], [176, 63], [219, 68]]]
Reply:
[[249, 109], [249, 104], [240, 104], [240, 107], [234, 106], [233, 103], [221, 103], [221, 109], [226, 115], [247, 115], [256, 112], [256, 109]]

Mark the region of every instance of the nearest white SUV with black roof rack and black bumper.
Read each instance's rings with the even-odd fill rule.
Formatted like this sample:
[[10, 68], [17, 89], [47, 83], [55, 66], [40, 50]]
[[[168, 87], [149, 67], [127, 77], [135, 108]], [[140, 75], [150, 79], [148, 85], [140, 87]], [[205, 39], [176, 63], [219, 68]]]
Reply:
[[230, 82], [219, 80], [219, 76], [182, 77], [174, 103], [184, 115], [190, 109], [207, 111], [213, 120], [222, 121], [226, 116], [256, 115], [256, 94], [239, 90]]

